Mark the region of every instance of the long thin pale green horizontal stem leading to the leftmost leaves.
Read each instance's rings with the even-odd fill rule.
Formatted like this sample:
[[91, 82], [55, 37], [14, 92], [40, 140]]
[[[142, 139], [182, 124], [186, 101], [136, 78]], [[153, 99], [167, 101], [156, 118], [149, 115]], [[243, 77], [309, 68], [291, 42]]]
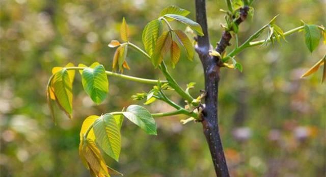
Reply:
[[[66, 67], [67, 70], [83, 70], [86, 67]], [[117, 77], [117, 78], [122, 78], [122, 79], [126, 79], [129, 81], [134, 81], [134, 82], [140, 82], [140, 83], [144, 83], [144, 84], [157, 84], [157, 83], [168, 83], [168, 81], [158, 81], [158, 80], [152, 80], [152, 79], [143, 79], [143, 78], [138, 78], [138, 77], [132, 77], [130, 75], [125, 75], [125, 74], [119, 74], [116, 72], [111, 72], [111, 71], [105, 71], [105, 73], [107, 75], [111, 75], [113, 77]]]

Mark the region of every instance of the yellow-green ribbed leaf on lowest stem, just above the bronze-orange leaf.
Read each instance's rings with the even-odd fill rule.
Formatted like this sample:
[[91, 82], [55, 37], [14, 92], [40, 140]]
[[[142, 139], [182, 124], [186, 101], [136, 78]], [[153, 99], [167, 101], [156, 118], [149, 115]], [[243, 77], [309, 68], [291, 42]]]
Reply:
[[112, 114], [104, 114], [94, 122], [94, 134], [97, 144], [103, 151], [119, 161], [121, 150], [120, 125]]

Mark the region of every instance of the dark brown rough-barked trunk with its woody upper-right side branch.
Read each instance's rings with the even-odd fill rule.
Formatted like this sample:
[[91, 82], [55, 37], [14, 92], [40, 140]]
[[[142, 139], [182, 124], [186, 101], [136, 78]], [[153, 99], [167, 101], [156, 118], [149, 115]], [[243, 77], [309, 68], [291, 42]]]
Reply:
[[[222, 66], [221, 58], [209, 55], [212, 49], [207, 28], [205, 0], [195, 0], [196, 20], [203, 29], [204, 36], [198, 36], [196, 52], [202, 62], [205, 75], [205, 105], [202, 111], [203, 131], [209, 146], [210, 154], [213, 160], [216, 176], [228, 177], [229, 171], [224, 156], [223, 146], [219, 132], [218, 119], [218, 93], [220, 81], [220, 68]], [[248, 7], [240, 9], [240, 17], [236, 23], [240, 24], [247, 18]], [[232, 30], [232, 29], [231, 29]], [[232, 35], [225, 31], [215, 50], [222, 54], [229, 45]]]

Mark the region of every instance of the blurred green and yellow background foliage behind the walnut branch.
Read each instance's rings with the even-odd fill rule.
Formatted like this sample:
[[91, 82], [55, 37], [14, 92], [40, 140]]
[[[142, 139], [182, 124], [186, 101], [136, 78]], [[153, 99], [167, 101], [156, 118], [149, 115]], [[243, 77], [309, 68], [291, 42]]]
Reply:
[[[79, 74], [74, 82], [74, 119], [56, 109], [54, 125], [46, 104], [45, 88], [54, 66], [68, 62], [90, 65], [98, 61], [111, 70], [114, 49], [125, 17], [131, 41], [143, 48], [146, 23], [170, 5], [192, 13], [193, 1], [170, 0], [0, 0], [0, 175], [90, 176], [78, 157], [79, 129], [88, 115], [119, 111], [130, 96], [151, 86], [110, 77], [110, 93], [96, 106], [83, 91]], [[307, 23], [326, 26], [323, 0], [255, 1], [255, 15], [240, 25], [243, 42], [277, 14], [284, 31]], [[212, 44], [221, 37], [224, 1], [207, 1]], [[179, 24], [173, 23], [173, 26]], [[184, 29], [180, 25], [178, 28]], [[237, 60], [243, 73], [223, 69], [219, 97], [220, 127], [232, 176], [324, 176], [326, 144], [325, 84], [321, 70], [300, 79], [321, 58], [326, 46], [310, 54], [304, 34], [288, 36], [287, 43], [245, 50]], [[232, 41], [234, 43], [234, 41]], [[232, 48], [229, 47], [229, 49]], [[161, 78], [141, 54], [129, 50], [126, 74]], [[203, 89], [199, 59], [182, 54], [172, 75], [182, 87], [196, 82], [192, 94]], [[176, 102], [180, 97], [170, 94]], [[153, 113], [171, 111], [164, 103], [146, 106]], [[211, 157], [200, 123], [182, 125], [184, 116], [157, 118], [158, 136], [149, 136], [128, 121], [122, 127], [120, 162], [107, 158], [125, 176], [214, 176]]]

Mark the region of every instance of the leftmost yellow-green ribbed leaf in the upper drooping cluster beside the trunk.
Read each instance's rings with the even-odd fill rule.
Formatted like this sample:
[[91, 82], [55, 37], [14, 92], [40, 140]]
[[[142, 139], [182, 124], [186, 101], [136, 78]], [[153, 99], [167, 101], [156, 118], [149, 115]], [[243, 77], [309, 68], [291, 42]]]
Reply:
[[155, 44], [161, 30], [162, 22], [158, 19], [155, 19], [147, 23], [143, 31], [143, 43], [145, 50], [149, 56], [152, 56], [154, 52]]

